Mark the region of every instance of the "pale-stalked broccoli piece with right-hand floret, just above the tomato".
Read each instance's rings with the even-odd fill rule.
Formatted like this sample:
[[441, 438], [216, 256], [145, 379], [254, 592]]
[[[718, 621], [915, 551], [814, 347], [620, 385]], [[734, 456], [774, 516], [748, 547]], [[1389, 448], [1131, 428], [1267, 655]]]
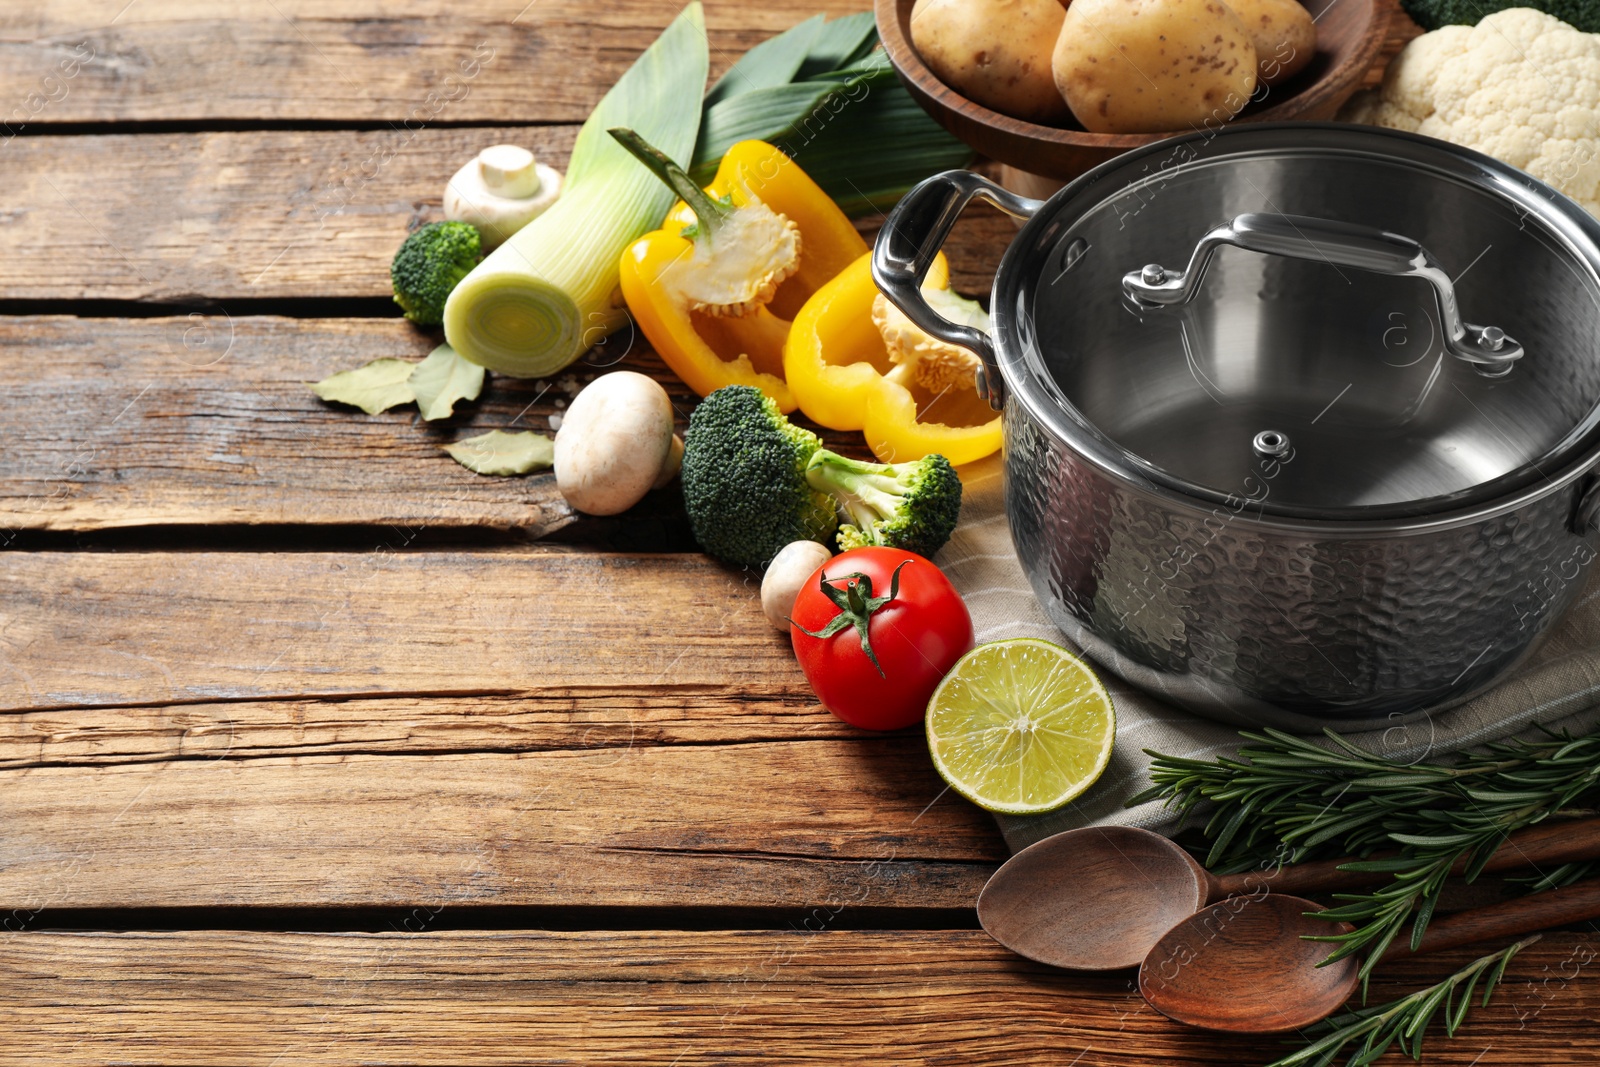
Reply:
[[850, 520], [838, 528], [840, 550], [882, 544], [931, 557], [950, 539], [962, 514], [962, 480], [938, 454], [875, 464], [819, 448], [805, 477], [811, 488], [834, 496]]

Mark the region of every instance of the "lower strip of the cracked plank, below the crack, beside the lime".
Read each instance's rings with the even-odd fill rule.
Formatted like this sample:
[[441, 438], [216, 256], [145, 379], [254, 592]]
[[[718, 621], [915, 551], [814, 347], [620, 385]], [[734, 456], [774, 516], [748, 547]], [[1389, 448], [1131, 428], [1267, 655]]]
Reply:
[[0, 771], [0, 910], [971, 907], [1005, 846], [942, 792], [907, 736]]

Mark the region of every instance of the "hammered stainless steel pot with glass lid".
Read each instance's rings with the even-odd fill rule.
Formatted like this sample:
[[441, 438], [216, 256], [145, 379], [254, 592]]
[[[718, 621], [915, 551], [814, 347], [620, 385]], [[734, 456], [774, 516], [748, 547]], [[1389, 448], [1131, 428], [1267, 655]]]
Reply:
[[[992, 333], [918, 283], [962, 208], [1029, 219]], [[1386, 130], [1227, 128], [1048, 202], [966, 171], [874, 277], [982, 357], [1006, 510], [1051, 619], [1203, 715], [1358, 729], [1517, 669], [1600, 545], [1600, 224]]]

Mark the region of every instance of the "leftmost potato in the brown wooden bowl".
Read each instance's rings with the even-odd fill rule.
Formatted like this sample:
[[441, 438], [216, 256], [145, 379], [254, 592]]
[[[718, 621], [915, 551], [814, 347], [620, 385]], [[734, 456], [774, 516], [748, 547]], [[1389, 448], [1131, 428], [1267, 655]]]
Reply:
[[1058, 0], [917, 0], [910, 40], [941, 82], [1013, 118], [1067, 120], [1050, 74], [1061, 35]]

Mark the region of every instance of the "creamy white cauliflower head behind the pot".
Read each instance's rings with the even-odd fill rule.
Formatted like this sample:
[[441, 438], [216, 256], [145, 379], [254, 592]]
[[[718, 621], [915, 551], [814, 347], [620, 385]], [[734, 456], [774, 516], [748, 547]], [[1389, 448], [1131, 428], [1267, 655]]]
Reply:
[[1339, 118], [1477, 149], [1600, 214], [1600, 34], [1542, 11], [1418, 37]]

